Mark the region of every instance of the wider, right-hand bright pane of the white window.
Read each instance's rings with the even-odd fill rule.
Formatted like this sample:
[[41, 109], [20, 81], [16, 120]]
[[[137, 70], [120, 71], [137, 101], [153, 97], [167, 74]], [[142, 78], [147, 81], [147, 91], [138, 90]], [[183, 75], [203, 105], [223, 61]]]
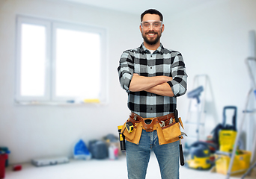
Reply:
[[99, 98], [100, 34], [56, 30], [55, 94]]

